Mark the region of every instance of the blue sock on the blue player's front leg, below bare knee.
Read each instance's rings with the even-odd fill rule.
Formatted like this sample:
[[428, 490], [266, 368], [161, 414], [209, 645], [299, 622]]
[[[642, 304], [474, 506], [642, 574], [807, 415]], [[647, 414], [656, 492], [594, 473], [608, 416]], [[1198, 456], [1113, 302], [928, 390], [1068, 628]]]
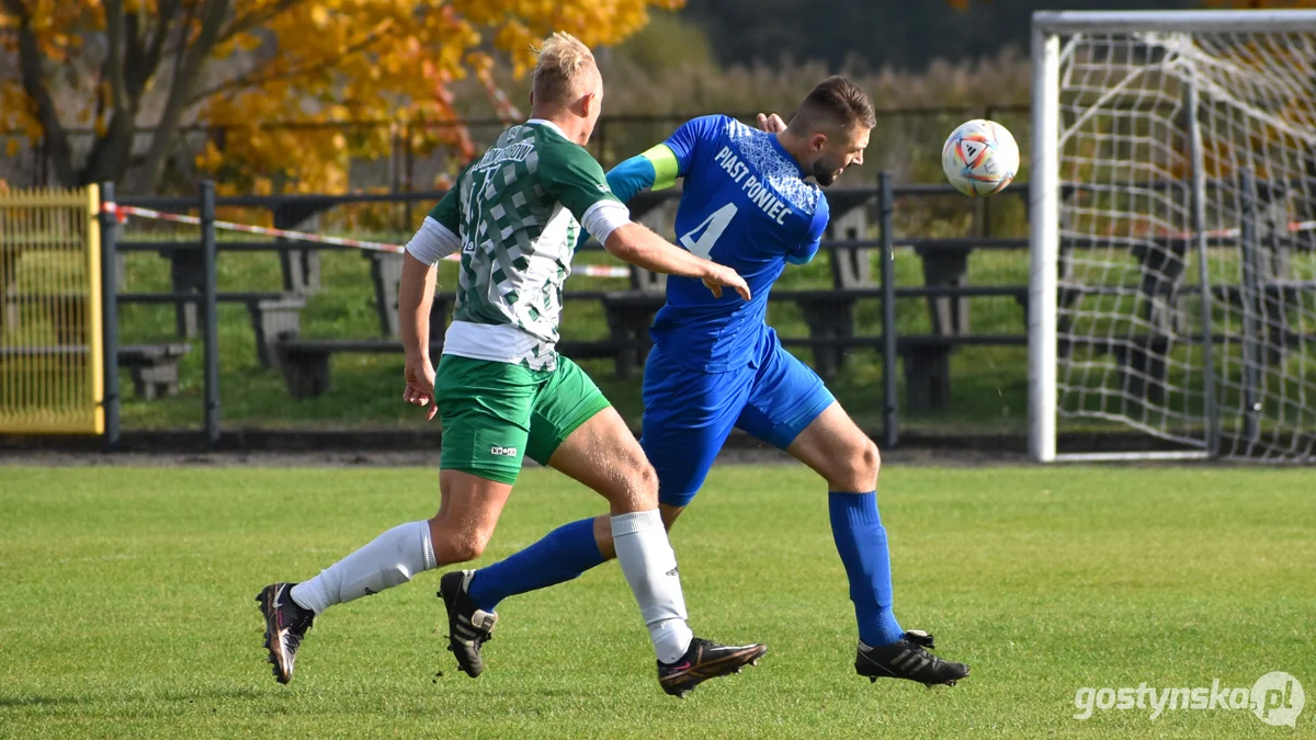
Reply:
[[859, 640], [870, 648], [904, 636], [891, 611], [891, 552], [878, 516], [878, 494], [828, 494], [832, 537], [850, 578], [850, 600], [859, 621]]

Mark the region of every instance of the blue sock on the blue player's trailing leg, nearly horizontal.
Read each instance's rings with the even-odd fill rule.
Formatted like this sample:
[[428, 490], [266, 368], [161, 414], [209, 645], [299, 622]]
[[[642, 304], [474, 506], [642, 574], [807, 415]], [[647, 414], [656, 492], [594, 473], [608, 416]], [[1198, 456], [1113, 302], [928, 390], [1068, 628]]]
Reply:
[[507, 560], [476, 570], [468, 593], [476, 608], [494, 611], [508, 596], [571, 581], [596, 565], [603, 565], [603, 554], [594, 541], [594, 519], [582, 519], [558, 527]]

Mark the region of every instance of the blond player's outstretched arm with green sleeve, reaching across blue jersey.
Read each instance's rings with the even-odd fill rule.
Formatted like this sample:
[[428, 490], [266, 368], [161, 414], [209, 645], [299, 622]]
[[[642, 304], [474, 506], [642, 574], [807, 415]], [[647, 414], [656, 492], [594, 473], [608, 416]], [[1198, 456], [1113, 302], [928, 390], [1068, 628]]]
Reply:
[[721, 287], [729, 286], [745, 300], [750, 299], [749, 286], [730, 267], [695, 257], [633, 223], [630, 211], [608, 187], [603, 167], [583, 149], [545, 149], [540, 176], [544, 188], [617, 259], [654, 273], [697, 278], [713, 295], [721, 295]]

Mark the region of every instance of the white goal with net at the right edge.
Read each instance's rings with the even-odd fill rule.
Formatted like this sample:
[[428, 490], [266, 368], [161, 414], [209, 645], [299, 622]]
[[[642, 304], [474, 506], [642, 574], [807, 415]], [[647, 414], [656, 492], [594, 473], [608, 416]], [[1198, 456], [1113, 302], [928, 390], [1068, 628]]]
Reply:
[[1316, 11], [1040, 12], [1032, 54], [1030, 457], [1316, 460]]

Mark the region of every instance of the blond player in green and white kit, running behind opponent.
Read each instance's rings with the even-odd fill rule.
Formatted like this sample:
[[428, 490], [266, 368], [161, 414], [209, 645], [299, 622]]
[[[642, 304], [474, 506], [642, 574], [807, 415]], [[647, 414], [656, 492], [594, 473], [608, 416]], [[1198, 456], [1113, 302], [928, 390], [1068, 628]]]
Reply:
[[[407, 349], [404, 400], [443, 423], [438, 514], [395, 527], [300, 583], [257, 596], [275, 677], [292, 679], [312, 620], [334, 604], [378, 594], [432, 570], [474, 560], [494, 535], [524, 457], [597, 491], [608, 535], [640, 606], [667, 694], [740, 672], [766, 648], [694, 636], [676, 558], [658, 512], [658, 478], [640, 444], [594, 381], [555, 352], [562, 283], [580, 228], [646, 270], [701, 280], [750, 299], [730, 267], [672, 246], [632, 223], [584, 150], [603, 103], [590, 49], [565, 33], [538, 54], [532, 115], [497, 138], [425, 219], [407, 245], [400, 323]], [[434, 266], [461, 253], [457, 305], [437, 370], [429, 348]], [[450, 649], [471, 677], [497, 616], [474, 608], [454, 571], [441, 582]]]

